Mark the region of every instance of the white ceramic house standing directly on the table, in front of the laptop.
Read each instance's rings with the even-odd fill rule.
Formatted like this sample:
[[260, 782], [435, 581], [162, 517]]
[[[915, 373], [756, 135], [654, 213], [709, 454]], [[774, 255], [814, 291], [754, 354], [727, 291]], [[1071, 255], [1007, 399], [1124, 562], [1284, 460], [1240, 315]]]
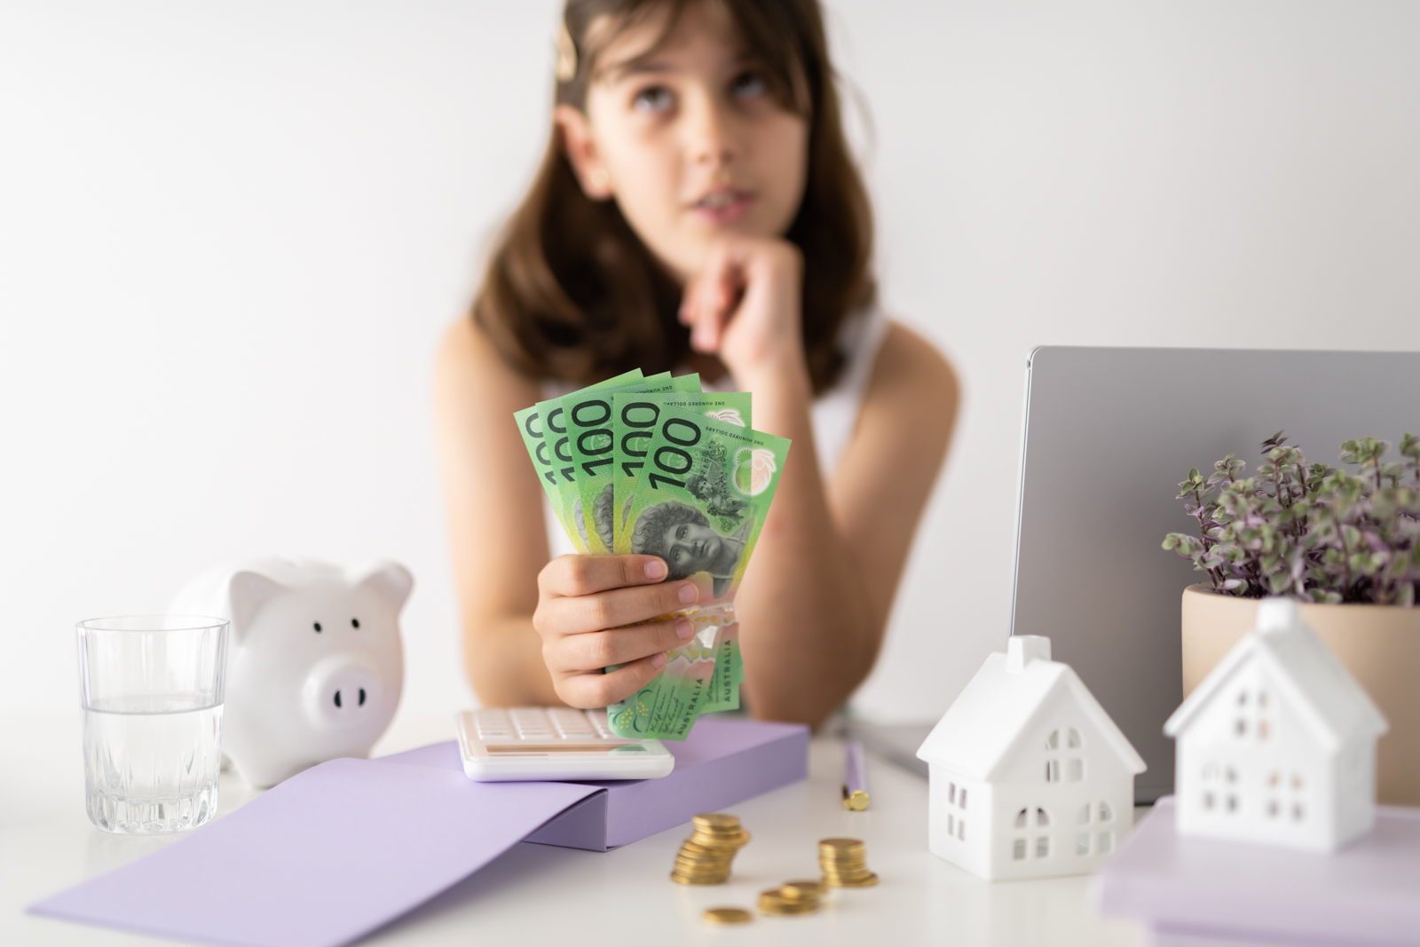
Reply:
[[937, 723], [933, 855], [987, 880], [1095, 869], [1133, 825], [1145, 761], [1051, 640], [1010, 639]]

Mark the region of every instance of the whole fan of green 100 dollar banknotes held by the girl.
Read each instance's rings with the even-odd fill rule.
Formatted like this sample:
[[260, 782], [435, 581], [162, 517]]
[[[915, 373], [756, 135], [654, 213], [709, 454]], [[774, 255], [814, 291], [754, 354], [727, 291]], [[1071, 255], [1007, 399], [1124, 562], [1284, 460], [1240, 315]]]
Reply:
[[[701, 392], [699, 375], [640, 369], [514, 415], [578, 552], [659, 555], [690, 579], [696, 633], [636, 694], [606, 708], [622, 737], [684, 740], [696, 718], [740, 706], [734, 593], [780, 483], [790, 442], [751, 427], [748, 392]], [[608, 669], [615, 670], [615, 667]]]

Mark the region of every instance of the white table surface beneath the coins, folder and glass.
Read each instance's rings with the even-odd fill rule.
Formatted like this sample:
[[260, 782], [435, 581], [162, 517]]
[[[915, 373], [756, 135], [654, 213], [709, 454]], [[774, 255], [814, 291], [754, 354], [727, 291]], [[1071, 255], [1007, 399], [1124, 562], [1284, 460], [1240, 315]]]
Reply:
[[[132, 946], [173, 941], [31, 917], [24, 907], [45, 894], [156, 850], [182, 836], [116, 836], [84, 815], [80, 714], [0, 714], [0, 944]], [[375, 754], [453, 738], [447, 718], [395, 721]], [[626, 947], [676, 944], [1081, 944], [1126, 947], [1142, 930], [1100, 919], [1083, 876], [987, 883], [927, 852], [927, 784], [897, 767], [868, 760], [872, 806], [839, 802], [842, 743], [814, 741], [809, 778], [731, 811], [753, 833], [727, 885], [670, 882], [676, 828], [615, 852], [523, 843], [362, 944], [567, 944]], [[224, 775], [220, 811], [257, 791]], [[220, 818], [220, 815], [219, 815]], [[199, 829], [200, 831], [200, 829]], [[707, 907], [751, 907], [765, 887], [818, 875], [816, 842], [846, 835], [868, 843], [868, 865], [882, 883], [835, 890], [809, 917], [765, 917], [736, 927], [701, 921]]]

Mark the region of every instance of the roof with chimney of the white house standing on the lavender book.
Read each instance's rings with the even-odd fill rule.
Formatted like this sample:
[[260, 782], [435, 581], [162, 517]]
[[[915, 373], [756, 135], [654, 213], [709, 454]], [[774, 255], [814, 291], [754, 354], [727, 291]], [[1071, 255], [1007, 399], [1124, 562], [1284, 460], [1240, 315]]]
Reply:
[[1177, 737], [1250, 662], [1271, 672], [1278, 696], [1295, 707], [1331, 751], [1352, 738], [1372, 738], [1390, 726], [1331, 649], [1302, 623], [1291, 599], [1264, 599], [1258, 628], [1233, 646], [1163, 726]]

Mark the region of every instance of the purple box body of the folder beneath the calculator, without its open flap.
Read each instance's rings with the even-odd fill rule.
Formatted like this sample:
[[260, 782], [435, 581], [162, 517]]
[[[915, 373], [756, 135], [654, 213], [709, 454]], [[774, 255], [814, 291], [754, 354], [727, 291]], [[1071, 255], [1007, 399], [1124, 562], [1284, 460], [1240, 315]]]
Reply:
[[[707, 716], [684, 743], [666, 741], [676, 768], [660, 779], [575, 785], [604, 789], [528, 836], [530, 842], [605, 852], [808, 775], [808, 727]], [[386, 762], [463, 772], [459, 744], [436, 743]]]

